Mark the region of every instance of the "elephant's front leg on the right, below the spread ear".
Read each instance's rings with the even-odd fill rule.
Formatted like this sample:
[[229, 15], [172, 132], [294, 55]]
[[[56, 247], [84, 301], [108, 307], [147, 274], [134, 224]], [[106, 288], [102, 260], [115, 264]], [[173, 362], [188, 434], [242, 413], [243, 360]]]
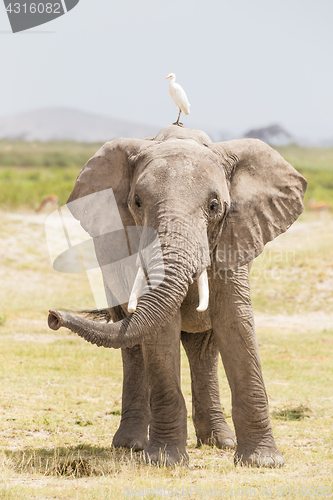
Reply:
[[211, 275], [212, 325], [232, 393], [237, 436], [235, 461], [277, 467], [283, 457], [274, 441], [258, 342], [248, 267]]

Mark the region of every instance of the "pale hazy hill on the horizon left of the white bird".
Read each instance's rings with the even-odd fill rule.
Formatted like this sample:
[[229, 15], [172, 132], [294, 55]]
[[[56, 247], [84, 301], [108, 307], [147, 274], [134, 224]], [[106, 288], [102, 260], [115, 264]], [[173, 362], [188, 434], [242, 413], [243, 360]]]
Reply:
[[44, 108], [0, 117], [0, 138], [30, 140], [107, 141], [116, 137], [144, 139], [159, 126], [118, 120], [71, 108]]

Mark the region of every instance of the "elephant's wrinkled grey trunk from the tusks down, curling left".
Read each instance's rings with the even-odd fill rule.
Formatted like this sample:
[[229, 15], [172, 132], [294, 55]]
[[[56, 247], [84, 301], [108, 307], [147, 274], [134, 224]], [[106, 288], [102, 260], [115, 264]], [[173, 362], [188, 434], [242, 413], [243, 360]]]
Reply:
[[103, 347], [125, 348], [141, 343], [163, 326], [180, 307], [191, 281], [186, 267], [172, 263], [165, 276], [156, 270], [149, 273], [150, 284], [159, 283], [144, 294], [135, 313], [116, 323], [100, 323], [62, 311], [50, 311], [48, 324], [53, 330], [64, 326], [86, 341]]

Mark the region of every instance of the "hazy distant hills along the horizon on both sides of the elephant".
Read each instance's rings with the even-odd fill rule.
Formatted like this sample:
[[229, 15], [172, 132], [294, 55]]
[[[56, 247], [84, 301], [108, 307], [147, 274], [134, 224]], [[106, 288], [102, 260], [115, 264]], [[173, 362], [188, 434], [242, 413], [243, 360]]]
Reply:
[[[105, 142], [117, 137], [144, 139], [155, 136], [161, 128], [161, 125], [120, 120], [72, 108], [42, 108], [0, 117], [0, 139], [26, 141]], [[206, 133], [213, 142], [227, 141], [238, 136], [218, 130], [206, 130]], [[272, 146], [287, 145], [291, 142], [304, 146], [333, 146], [333, 139], [313, 142], [296, 138], [278, 124], [253, 128], [243, 134], [243, 137], [261, 139]]]

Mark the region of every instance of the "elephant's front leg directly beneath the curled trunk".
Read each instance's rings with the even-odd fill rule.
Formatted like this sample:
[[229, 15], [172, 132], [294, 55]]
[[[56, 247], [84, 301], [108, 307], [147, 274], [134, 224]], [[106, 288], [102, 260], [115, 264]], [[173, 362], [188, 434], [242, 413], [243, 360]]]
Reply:
[[187, 462], [187, 411], [180, 389], [180, 311], [143, 343], [150, 390], [149, 443], [146, 459], [173, 465]]

